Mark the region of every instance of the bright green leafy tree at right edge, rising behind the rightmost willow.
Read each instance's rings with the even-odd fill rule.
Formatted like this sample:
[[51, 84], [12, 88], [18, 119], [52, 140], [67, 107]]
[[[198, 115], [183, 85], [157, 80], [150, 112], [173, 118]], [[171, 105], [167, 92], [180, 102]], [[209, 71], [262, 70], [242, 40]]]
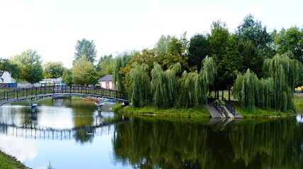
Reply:
[[299, 27], [284, 28], [276, 35], [275, 44], [277, 44], [278, 54], [284, 54], [292, 51], [294, 57], [303, 63], [303, 29]]

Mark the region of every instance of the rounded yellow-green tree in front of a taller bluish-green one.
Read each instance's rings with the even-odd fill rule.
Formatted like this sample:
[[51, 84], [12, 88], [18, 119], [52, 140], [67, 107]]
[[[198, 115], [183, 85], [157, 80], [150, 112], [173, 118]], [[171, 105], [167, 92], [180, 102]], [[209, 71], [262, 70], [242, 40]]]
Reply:
[[94, 65], [90, 61], [87, 61], [85, 55], [74, 63], [72, 68], [72, 82], [73, 84], [80, 85], [98, 83], [98, 73], [96, 73]]

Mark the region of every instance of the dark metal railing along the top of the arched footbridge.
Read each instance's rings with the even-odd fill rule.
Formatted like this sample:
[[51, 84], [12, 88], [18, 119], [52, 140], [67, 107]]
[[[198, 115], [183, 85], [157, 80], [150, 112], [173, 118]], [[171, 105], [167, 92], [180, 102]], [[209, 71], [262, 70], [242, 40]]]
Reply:
[[45, 87], [30, 87], [22, 89], [13, 89], [7, 92], [0, 92], [0, 101], [8, 101], [10, 99], [23, 99], [29, 96], [37, 97], [46, 94], [96, 94], [101, 96], [110, 96], [118, 99], [128, 99], [126, 92], [120, 92], [112, 89], [104, 89], [98, 86], [80, 86], [80, 85], [57, 85]]

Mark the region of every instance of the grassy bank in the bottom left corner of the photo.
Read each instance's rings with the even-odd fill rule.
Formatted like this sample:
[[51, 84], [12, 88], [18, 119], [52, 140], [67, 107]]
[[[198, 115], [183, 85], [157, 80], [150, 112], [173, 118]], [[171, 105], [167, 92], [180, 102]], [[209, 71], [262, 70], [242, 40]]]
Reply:
[[20, 161], [17, 161], [16, 158], [13, 158], [11, 156], [8, 156], [7, 154], [4, 154], [4, 152], [0, 151], [0, 168], [1, 169], [25, 169], [28, 168]]

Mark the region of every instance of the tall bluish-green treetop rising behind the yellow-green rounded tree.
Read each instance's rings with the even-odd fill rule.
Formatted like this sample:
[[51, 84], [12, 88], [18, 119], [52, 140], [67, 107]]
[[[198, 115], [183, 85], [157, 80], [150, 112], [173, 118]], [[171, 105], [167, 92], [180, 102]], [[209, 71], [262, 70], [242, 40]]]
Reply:
[[97, 51], [93, 40], [89, 41], [83, 38], [81, 41], [78, 40], [76, 42], [76, 52], [74, 54], [73, 63], [79, 60], [83, 55], [86, 56], [87, 61], [90, 61], [91, 63], [95, 62]]

